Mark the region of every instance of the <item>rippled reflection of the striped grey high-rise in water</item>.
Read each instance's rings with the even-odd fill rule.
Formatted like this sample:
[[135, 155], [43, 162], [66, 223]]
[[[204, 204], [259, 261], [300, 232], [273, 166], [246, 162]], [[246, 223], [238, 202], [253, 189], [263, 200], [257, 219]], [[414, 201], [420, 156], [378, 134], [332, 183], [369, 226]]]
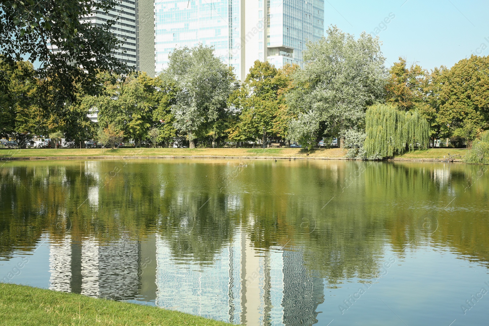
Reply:
[[139, 294], [139, 241], [121, 237], [110, 243], [95, 239], [52, 243], [49, 288], [108, 299], [133, 299]]

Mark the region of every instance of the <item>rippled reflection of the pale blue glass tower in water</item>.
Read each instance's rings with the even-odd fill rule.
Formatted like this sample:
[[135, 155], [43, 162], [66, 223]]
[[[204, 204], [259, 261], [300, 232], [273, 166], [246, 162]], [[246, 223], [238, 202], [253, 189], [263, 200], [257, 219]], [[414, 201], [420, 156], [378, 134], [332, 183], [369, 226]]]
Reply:
[[302, 252], [257, 253], [238, 234], [213, 264], [172, 258], [156, 239], [156, 305], [247, 325], [312, 325], [323, 279], [308, 274]]

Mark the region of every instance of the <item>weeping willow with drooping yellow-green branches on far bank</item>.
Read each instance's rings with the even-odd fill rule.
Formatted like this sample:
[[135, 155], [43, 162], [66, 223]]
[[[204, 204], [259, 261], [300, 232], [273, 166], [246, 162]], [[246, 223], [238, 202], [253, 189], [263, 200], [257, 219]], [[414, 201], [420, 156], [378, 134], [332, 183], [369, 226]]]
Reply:
[[428, 146], [429, 124], [418, 112], [377, 104], [367, 109], [365, 127], [367, 157], [390, 157]]

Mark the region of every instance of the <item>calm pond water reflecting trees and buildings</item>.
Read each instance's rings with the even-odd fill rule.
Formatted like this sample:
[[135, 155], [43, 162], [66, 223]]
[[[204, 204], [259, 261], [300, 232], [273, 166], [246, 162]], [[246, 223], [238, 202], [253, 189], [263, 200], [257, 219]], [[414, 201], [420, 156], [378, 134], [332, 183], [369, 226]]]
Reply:
[[1, 282], [250, 326], [489, 322], [485, 166], [1, 164]]

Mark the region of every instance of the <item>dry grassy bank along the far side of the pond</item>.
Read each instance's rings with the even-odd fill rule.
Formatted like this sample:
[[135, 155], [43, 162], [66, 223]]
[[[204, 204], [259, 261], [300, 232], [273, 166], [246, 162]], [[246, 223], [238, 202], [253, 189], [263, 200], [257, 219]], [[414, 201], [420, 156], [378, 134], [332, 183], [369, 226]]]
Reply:
[[[396, 156], [397, 160], [443, 160], [451, 156], [460, 160], [466, 154], [466, 149], [435, 148], [416, 150]], [[309, 155], [307, 155], [309, 153]], [[0, 150], [1, 158], [22, 157], [64, 157], [64, 158], [107, 158], [107, 157], [298, 157], [298, 158], [344, 158], [346, 150], [313, 149], [308, 152], [300, 148], [116, 148], [116, 149], [26, 149]], [[456, 155], [456, 156], [455, 156]]]

